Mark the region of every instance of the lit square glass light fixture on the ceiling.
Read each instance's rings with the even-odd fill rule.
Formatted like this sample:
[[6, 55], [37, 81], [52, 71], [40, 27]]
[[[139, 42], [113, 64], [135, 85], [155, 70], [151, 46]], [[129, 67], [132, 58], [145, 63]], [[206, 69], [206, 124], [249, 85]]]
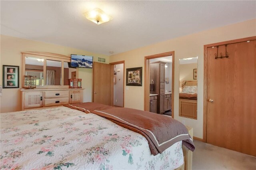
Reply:
[[99, 8], [94, 8], [91, 11], [85, 12], [83, 16], [96, 24], [102, 24], [104, 22], [112, 20], [110, 16], [108, 16], [104, 11]]

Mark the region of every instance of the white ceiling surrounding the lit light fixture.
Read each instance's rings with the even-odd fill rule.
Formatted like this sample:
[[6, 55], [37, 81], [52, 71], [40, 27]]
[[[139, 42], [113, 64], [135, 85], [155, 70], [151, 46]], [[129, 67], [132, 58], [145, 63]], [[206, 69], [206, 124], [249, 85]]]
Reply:
[[[96, 7], [113, 19], [84, 18]], [[255, 9], [256, 1], [1, 1], [1, 34], [112, 55], [254, 19]]]

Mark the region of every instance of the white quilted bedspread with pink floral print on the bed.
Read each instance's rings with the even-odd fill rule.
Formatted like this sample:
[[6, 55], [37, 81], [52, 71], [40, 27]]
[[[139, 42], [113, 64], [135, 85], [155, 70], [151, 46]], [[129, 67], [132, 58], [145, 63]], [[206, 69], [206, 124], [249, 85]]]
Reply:
[[[154, 156], [142, 134], [90, 113], [93, 108], [83, 109], [2, 113], [0, 168], [176, 169], [183, 165], [182, 141]], [[101, 109], [98, 112], [113, 108]]]

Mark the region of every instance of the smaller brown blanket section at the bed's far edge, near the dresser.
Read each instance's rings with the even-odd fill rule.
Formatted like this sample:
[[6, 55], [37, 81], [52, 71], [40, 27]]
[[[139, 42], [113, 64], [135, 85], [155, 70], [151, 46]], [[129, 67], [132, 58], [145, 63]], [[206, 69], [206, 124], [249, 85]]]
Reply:
[[92, 103], [92, 102], [75, 103], [72, 105], [63, 105], [63, 106], [69, 107], [71, 109], [83, 111], [85, 113], [92, 113], [92, 111], [94, 111], [94, 110], [105, 110], [105, 109], [114, 108], [112, 106], [103, 105], [103, 104], [99, 104], [99, 103]]

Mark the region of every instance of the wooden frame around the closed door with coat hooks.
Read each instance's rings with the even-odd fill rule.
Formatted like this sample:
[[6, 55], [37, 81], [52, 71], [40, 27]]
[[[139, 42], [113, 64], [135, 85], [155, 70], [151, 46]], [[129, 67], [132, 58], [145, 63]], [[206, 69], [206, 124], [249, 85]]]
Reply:
[[247, 38], [240, 38], [236, 40], [229, 40], [225, 42], [218, 42], [218, 43], [211, 43], [204, 45], [204, 103], [203, 103], [203, 142], [206, 142], [207, 140], [207, 48], [208, 47], [214, 47], [219, 45], [226, 45], [231, 43], [239, 43], [239, 42], [246, 42], [246, 41], [252, 41], [256, 40], [256, 36], [247, 37]]

